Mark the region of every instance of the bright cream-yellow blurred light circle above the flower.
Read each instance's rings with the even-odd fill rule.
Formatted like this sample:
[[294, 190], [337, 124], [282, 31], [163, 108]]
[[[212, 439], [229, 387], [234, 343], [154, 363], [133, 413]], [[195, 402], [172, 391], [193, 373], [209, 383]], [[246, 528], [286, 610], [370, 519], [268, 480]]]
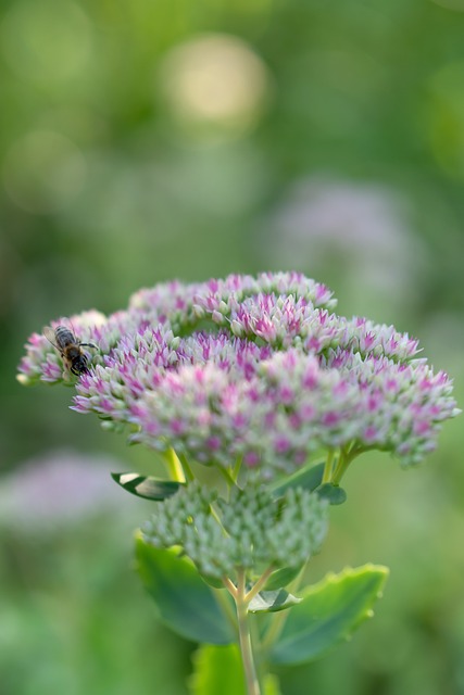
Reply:
[[192, 135], [237, 137], [265, 108], [269, 76], [247, 43], [204, 35], [175, 47], [160, 68], [161, 91], [174, 118]]

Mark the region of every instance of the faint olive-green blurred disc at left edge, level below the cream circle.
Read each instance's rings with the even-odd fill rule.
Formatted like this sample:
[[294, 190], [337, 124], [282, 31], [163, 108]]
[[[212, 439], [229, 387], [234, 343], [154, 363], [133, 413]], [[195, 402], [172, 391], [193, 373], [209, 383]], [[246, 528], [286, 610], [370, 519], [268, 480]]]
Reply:
[[68, 138], [35, 130], [11, 146], [2, 174], [16, 205], [29, 213], [51, 213], [78, 194], [86, 169], [83, 153]]

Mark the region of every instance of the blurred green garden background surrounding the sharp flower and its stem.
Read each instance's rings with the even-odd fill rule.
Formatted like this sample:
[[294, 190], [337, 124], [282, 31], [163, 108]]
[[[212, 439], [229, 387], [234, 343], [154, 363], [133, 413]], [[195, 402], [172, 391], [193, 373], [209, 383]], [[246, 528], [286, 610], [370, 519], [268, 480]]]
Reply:
[[[3, 0], [0, 693], [183, 695], [192, 645], [131, 569], [149, 470], [72, 392], [14, 380], [51, 318], [172, 277], [303, 270], [421, 339], [464, 402], [464, 0]], [[313, 568], [392, 573], [284, 695], [464, 693], [462, 420], [347, 477]], [[114, 490], [113, 490], [114, 488]]]

